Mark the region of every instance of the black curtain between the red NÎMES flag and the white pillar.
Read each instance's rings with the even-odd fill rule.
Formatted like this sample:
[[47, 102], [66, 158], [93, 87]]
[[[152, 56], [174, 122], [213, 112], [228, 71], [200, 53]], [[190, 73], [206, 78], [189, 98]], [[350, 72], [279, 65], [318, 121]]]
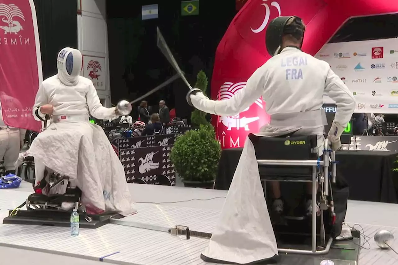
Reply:
[[43, 79], [57, 74], [57, 54], [64, 47], [77, 49], [75, 0], [34, 0], [39, 27]]

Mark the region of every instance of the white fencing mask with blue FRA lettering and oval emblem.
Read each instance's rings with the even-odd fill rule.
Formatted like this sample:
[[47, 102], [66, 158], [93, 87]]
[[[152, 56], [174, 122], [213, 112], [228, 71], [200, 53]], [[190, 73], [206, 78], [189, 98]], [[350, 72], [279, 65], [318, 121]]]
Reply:
[[58, 77], [65, 86], [76, 86], [82, 70], [82, 54], [79, 50], [66, 47], [57, 56]]

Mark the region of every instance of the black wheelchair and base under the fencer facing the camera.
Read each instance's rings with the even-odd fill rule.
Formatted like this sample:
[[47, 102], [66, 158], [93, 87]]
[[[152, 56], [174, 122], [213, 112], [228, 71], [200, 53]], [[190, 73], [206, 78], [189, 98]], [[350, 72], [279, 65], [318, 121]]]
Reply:
[[[44, 127], [47, 127], [47, 120]], [[28, 137], [28, 148], [38, 135], [31, 132]], [[71, 185], [68, 176], [61, 175], [49, 168], [45, 169], [45, 177], [35, 186], [35, 160], [26, 157], [18, 167], [18, 175], [25, 181], [32, 183], [35, 193], [20, 206], [10, 210], [8, 216], [3, 219], [3, 224], [28, 224], [45, 226], [70, 226], [70, 214], [76, 209], [80, 218], [80, 227], [98, 228], [109, 224], [110, 219], [122, 218], [117, 213], [88, 214], [82, 204], [82, 191], [76, 185]], [[26, 206], [26, 210], [22, 207]]]

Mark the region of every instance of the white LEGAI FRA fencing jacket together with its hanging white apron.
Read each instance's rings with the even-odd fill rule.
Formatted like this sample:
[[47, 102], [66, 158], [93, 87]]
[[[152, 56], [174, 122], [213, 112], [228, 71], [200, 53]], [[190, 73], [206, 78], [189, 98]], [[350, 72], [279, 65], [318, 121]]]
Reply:
[[[232, 116], [250, 107], [262, 96], [271, 122], [261, 128], [259, 134], [278, 136], [295, 131], [302, 135], [321, 134], [318, 144], [322, 146], [326, 125], [326, 116], [321, 110], [324, 93], [336, 101], [335, 122], [347, 126], [355, 109], [353, 94], [347, 86], [327, 62], [297, 48], [287, 47], [260, 66], [248, 79], [246, 88], [230, 99], [214, 101], [199, 93], [191, 95], [191, 101], [201, 111]], [[219, 221], [202, 255], [235, 264], [267, 260], [279, 255], [254, 145], [248, 138]]]

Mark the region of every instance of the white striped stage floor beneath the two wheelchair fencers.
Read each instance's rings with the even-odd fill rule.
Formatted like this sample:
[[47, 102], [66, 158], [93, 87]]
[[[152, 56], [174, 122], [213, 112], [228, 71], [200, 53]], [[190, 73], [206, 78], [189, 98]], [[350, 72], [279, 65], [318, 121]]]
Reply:
[[[138, 213], [121, 219], [121, 224], [144, 222], [166, 227], [180, 224], [189, 226], [192, 230], [210, 233], [213, 232], [227, 193], [142, 184], [129, 184], [129, 188], [137, 202], [135, 207]], [[22, 183], [15, 190], [0, 190], [0, 218], [6, 217], [9, 209], [18, 207], [31, 192], [29, 183]], [[350, 226], [360, 224], [365, 236], [369, 238], [370, 246], [365, 243], [365, 249], [360, 251], [359, 265], [398, 264], [396, 253], [378, 249], [373, 241], [374, 234], [382, 229], [389, 230], [398, 237], [397, 217], [396, 204], [349, 201], [346, 222]], [[359, 226], [355, 228], [361, 230]], [[3, 257], [18, 253], [11, 254], [16, 265], [94, 265], [100, 262], [122, 265], [215, 264], [205, 263], [200, 258], [200, 253], [208, 242], [203, 238], [191, 237], [186, 240], [183, 236], [119, 224], [81, 229], [80, 236], [76, 238], [70, 236], [69, 228], [0, 224], [0, 253]], [[398, 249], [398, 242], [394, 242], [392, 247]], [[31, 262], [26, 263], [25, 260]], [[320, 261], [316, 264], [320, 264]]]

